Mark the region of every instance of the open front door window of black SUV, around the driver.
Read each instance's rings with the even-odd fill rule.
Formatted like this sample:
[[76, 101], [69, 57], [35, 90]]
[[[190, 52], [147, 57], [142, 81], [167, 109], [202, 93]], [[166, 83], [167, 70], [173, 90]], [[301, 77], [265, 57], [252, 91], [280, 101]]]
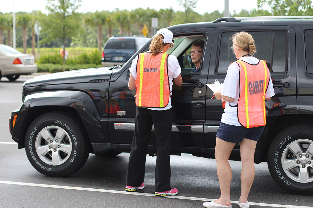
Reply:
[[[176, 56], [178, 63], [182, 69], [182, 73], [190, 73], [192, 69], [195, 67], [194, 64], [192, 63], [191, 55], [188, 52], [191, 51], [192, 43], [198, 40], [205, 41], [205, 37], [203, 35], [174, 37], [173, 48], [167, 50], [166, 52], [168, 54]], [[203, 53], [204, 53], [204, 49], [203, 49]], [[201, 60], [203, 59], [203, 53], [202, 53]]]

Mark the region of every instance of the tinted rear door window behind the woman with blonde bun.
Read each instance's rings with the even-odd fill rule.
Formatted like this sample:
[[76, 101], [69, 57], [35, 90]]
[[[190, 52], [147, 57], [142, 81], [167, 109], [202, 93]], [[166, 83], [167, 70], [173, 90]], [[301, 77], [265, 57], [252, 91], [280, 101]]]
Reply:
[[[230, 49], [229, 40], [234, 32], [223, 32], [219, 46], [217, 73], [225, 73], [228, 66], [237, 58]], [[273, 74], [287, 71], [287, 33], [285, 31], [249, 31], [254, 38], [256, 53], [254, 57], [265, 60]]]

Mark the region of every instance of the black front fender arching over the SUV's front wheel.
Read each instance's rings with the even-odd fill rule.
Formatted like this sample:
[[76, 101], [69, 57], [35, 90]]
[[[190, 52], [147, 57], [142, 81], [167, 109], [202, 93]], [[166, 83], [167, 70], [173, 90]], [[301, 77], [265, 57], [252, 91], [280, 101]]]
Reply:
[[65, 112], [73, 112], [74, 109], [77, 112], [91, 143], [106, 142], [100, 124], [100, 114], [90, 96], [81, 91], [62, 90], [38, 92], [25, 97], [12, 129], [12, 139], [18, 142], [18, 147], [24, 147], [27, 128], [34, 119], [41, 114], [60, 109], [66, 109]]

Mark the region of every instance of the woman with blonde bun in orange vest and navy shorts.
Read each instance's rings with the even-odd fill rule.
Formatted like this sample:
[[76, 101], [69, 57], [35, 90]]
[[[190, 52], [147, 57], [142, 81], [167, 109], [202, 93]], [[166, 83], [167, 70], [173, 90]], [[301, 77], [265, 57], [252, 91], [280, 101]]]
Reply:
[[221, 196], [204, 202], [204, 207], [232, 207], [232, 170], [228, 159], [235, 144], [239, 143], [242, 170], [238, 205], [249, 208], [248, 194], [255, 174], [254, 151], [266, 124], [265, 100], [275, 94], [266, 62], [251, 56], [256, 52], [253, 37], [247, 32], [238, 32], [231, 40], [233, 53], [239, 60], [228, 66], [223, 88], [214, 93], [216, 99], [226, 101], [215, 147]]

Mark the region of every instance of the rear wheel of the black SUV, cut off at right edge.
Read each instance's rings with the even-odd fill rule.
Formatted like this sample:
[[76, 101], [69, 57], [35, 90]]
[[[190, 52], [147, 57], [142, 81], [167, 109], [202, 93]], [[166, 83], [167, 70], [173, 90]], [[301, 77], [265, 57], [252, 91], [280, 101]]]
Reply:
[[295, 194], [313, 194], [313, 125], [294, 124], [276, 135], [267, 164], [274, 181]]

